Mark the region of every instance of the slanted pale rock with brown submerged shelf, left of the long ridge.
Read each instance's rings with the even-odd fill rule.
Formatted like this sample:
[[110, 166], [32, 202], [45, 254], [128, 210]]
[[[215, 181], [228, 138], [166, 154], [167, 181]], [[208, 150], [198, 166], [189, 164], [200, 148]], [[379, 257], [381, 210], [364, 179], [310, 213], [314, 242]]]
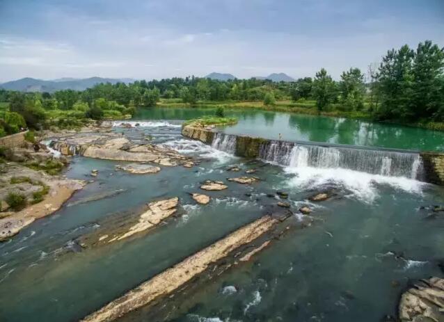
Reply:
[[142, 232], [148, 232], [163, 220], [175, 214], [179, 198], [170, 198], [150, 202], [138, 214], [120, 214], [120, 216], [104, 221], [100, 230], [90, 235], [82, 236], [78, 243], [86, 248], [99, 243], [121, 241]]

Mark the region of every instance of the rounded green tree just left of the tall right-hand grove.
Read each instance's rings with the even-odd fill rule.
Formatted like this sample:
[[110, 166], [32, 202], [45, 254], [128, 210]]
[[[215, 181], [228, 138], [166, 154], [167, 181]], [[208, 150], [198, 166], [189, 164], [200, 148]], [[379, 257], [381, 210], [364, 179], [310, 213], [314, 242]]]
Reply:
[[358, 111], [364, 106], [364, 74], [359, 68], [342, 72], [340, 82], [341, 103], [347, 111]]

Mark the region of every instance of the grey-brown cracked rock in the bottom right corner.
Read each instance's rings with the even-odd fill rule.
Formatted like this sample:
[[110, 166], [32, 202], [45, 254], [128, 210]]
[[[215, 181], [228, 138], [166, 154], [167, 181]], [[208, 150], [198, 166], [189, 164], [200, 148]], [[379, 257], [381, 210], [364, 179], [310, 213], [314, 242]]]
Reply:
[[402, 294], [399, 319], [402, 322], [444, 321], [444, 280], [438, 277], [421, 280]]

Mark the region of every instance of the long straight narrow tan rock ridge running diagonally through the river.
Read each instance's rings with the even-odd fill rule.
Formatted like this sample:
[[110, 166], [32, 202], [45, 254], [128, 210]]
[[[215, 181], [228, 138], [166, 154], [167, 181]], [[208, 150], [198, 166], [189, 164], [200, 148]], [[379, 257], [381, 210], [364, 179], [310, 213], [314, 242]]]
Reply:
[[[284, 219], [281, 219], [284, 220]], [[128, 312], [138, 309], [144, 305], [155, 304], [164, 296], [171, 298], [171, 293], [175, 290], [183, 288], [185, 284], [191, 282], [194, 277], [200, 276], [205, 271], [215, 271], [223, 264], [218, 265], [219, 261], [235, 253], [241, 256], [242, 252], [247, 252], [241, 256], [242, 260], [248, 260], [255, 252], [259, 252], [266, 247], [268, 243], [262, 241], [256, 251], [246, 248], [246, 245], [259, 239], [267, 232], [271, 232], [273, 228], [280, 223], [280, 220], [272, 216], [263, 216], [255, 220], [253, 223], [241, 227], [239, 230], [232, 232], [223, 239], [216, 241], [207, 248], [196, 252], [196, 254], [184, 259], [179, 264], [168, 268], [166, 271], [152, 277], [151, 280], [144, 282], [129, 291], [124, 296], [113, 300], [111, 303], [102, 307], [97, 312], [86, 316], [82, 321], [102, 322], [113, 321], [127, 314]], [[270, 238], [271, 239], [271, 238]], [[242, 246], [245, 246], [242, 248]], [[233, 264], [227, 264], [225, 270]]]

